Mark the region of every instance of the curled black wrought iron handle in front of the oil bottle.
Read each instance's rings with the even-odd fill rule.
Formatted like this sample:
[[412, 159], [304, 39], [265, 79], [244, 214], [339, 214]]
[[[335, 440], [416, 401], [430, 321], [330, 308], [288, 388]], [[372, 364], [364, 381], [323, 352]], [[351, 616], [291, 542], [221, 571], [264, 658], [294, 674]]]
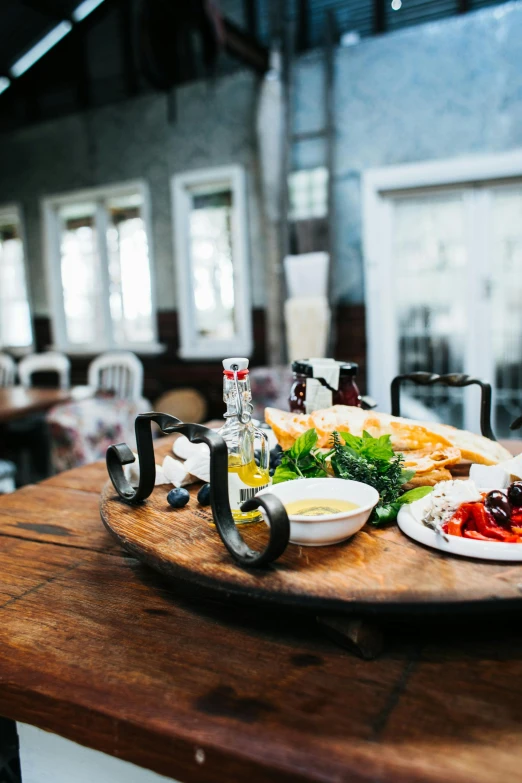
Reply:
[[125, 478], [123, 466], [134, 462], [134, 455], [126, 443], [107, 449], [107, 470], [114, 489], [126, 503], [138, 504], [146, 500], [154, 489], [156, 461], [152, 443], [151, 424], [156, 422], [165, 435], [179, 432], [192, 443], [206, 443], [210, 449], [210, 505], [217, 531], [232, 557], [243, 566], [262, 566], [277, 560], [290, 539], [290, 522], [286, 509], [275, 495], [266, 494], [243, 503], [242, 511], [263, 508], [268, 517], [270, 535], [262, 551], [251, 549], [236, 527], [228, 499], [228, 450], [221, 435], [201, 424], [184, 424], [167, 413], [141, 413], [136, 417], [136, 444], [140, 465], [137, 488]]

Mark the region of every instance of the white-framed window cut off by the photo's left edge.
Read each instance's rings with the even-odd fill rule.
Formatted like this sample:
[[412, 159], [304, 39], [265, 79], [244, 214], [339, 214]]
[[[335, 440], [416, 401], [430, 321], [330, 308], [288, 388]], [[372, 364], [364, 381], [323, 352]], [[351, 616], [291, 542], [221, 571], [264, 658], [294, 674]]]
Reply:
[[0, 349], [33, 343], [22, 220], [17, 207], [0, 207]]

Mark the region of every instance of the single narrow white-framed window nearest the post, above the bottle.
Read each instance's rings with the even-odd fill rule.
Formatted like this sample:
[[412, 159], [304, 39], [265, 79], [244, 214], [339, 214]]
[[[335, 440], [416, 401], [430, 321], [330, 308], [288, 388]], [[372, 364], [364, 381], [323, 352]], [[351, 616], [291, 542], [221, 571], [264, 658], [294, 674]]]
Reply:
[[252, 351], [245, 174], [225, 166], [172, 180], [183, 358]]

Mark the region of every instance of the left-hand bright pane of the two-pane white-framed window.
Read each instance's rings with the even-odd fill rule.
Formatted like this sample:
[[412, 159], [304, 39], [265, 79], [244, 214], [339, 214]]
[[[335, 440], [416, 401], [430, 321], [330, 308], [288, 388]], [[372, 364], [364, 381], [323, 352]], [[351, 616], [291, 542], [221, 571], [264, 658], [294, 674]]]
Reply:
[[61, 212], [61, 274], [67, 337], [82, 345], [104, 342], [100, 258], [95, 204], [71, 205]]

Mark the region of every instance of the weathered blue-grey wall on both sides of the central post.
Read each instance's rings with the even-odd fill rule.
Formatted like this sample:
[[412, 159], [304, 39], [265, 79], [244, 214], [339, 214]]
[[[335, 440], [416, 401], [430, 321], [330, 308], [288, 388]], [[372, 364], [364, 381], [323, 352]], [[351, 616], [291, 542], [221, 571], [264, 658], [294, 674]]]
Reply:
[[[366, 168], [522, 147], [522, 2], [377, 38], [336, 54], [337, 291], [364, 298], [360, 177]], [[296, 68], [295, 128], [322, 123], [322, 58]], [[169, 123], [151, 95], [0, 137], [0, 203], [25, 211], [31, 289], [48, 312], [40, 200], [74, 188], [144, 178], [152, 192], [160, 309], [175, 307], [169, 179], [186, 169], [242, 163], [248, 173], [254, 304], [264, 302], [257, 195], [255, 106], [249, 72], [180, 89]], [[295, 164], [320, 165], [324, 146], [304, 142]], [[378, 230], [378, 227], [376, 227]]]

